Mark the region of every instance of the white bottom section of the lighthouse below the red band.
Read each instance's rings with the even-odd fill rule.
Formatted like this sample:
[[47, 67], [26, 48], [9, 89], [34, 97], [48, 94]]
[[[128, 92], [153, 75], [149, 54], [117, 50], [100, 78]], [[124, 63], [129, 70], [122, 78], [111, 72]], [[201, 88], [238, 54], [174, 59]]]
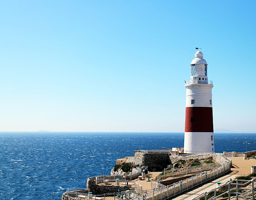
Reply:
[[213, 132], [185, 132], [184, 153], [214, 152]]

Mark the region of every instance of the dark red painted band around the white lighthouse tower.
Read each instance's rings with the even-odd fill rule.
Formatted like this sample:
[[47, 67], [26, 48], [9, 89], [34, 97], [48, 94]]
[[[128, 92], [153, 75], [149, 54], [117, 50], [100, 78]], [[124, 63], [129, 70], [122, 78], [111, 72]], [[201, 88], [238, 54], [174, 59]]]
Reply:
[[213, 132], [211, 107], [186, 107], [185, 132]]

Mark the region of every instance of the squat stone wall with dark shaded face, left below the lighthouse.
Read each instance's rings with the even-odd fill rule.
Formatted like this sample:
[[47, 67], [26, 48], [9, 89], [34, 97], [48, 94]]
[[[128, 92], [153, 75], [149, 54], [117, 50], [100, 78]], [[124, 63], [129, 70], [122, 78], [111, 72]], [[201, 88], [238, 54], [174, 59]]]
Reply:
[[145, 154], [134, 152], [134, 157], [128, 158], [126, 162], [132, 162], [140, 166], [148, 166], [150, 171], [163, 170], [170, 163], [168, 154]]

